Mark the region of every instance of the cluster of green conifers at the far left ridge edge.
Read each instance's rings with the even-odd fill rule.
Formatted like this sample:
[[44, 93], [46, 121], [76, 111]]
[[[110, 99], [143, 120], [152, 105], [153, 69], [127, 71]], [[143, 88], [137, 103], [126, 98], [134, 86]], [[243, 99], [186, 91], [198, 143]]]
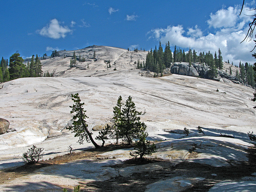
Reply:
[[43, 76], [42, 64], [38, 55], [36, 58], [32, 55], [31, 61], [24, 64], [23, 58], [18, 51], [10, 59], [4, 59], [0, 62], [0, 82], [6, 82], [23, 77], [41, 77]]

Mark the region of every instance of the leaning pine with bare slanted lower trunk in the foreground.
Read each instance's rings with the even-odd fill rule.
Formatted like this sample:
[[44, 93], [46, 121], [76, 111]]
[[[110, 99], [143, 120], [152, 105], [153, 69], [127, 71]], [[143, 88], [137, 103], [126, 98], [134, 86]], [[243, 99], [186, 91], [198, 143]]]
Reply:
[[86, 116], [86, 110], [83, 108], [84, 103], [81, 103], [78, 93], [74, 95], [71, 94], [71, 97], [75, 104], [70, 106], [70, 108], [72, 108], [70, 113], [75, 113], [75, 115], [72, 118], [72, 125], [68, 126], [67, 129], [72, 130], [72, 132], [75, 133], [75, 137], [79, 137], [79, 144], [83, 144], [84, 139], [86, 139], [87, 142], [91, 141], [95, 148], [98, 148], [98, 144], [96, 144], [92, 138], [92, 133], [87, 129], [88, 124], [86, 124], [85, 119], [88, 118], [88, 116]]

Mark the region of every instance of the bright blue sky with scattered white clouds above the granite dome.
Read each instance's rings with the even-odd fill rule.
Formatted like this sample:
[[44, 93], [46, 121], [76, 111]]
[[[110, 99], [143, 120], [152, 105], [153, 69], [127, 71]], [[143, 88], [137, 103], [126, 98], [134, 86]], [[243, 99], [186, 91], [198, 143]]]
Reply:
[[[0, 56], [23, 58], [90, 45], [150, 50], [170, 41], [182, 50], [214, 53], [234, 64], [255, 62], [246, 35], [255, 0], [12, 0], [2, 1]], [[254, 14], [254, 13], [253, 13]]]

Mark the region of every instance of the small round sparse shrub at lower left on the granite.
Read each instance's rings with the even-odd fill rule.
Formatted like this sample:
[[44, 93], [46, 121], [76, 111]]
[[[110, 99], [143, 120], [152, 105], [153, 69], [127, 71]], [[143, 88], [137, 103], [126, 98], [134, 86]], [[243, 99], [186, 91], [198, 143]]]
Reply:
[[37, 163], [40, 159], [43, 158], [43, 150], [44, 148], [37, 148], [33, 145], [32, 148], [28, 149], [28, 151], [22, 155], [22, 160], [28, 163]]

